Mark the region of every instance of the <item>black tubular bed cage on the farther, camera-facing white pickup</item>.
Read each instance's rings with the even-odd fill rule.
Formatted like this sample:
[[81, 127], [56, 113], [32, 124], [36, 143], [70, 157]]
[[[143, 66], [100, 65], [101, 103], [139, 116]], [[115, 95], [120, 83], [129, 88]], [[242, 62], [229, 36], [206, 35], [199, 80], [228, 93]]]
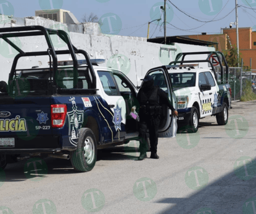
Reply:
[[[185, 60], [185, 56], [187, 55], [208, 55], [208, 57], [206, 58], [206, 60]], [[222, 60], [219, 57], [219, 55], [222, 56], [222, 60], [224, 61], [225, 67], [226, 67], [226, 81], [224, 79], [224, 68], [222, 65]], [[182, 56], [182, 58], [181, 58]], [[221, 53], [220, 51], [204, 51], [204, 52], [187, 52], [187, 53], [178, 53], [178, 55], [175, 58], [175, 61], [171, 61], [171, 63], [169, 64], [169, 66], [167, 66], [167, 68], [169, 68], [170, 66], [176, 65], [177, 63], [180, 63], [180, 66], [183, 65], [183, 63], [209, 63], [209, 65], [211, 65], [211, 69], [213, 70], [214, 76], [217, 79], [217, 73], [216, 70], [213, 66], [213, 63], [211, 62], [210, 58], [211, 56], [216, 56], [217, 57], [217, 61], [221, 67], [221, 82], [224, 83], [228, 83], [229, 81], [229, 66], [227, 65], [227, 61], [223, 55], [223, 53]], [[180, 60], [181, 58], [181, 60]], [[180, 61], [179, 61], [180, 60]], [[189, 65], [183, 65], [186, 67], [189, 67]]]

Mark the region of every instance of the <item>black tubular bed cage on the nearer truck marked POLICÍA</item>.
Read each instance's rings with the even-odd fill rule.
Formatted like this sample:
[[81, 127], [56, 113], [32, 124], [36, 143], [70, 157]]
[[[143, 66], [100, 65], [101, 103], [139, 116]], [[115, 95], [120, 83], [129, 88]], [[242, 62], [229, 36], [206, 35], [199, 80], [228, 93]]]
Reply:
[[[31, 36], [40, 36], [43, 35], [46, 39], [47, 45], [48, 45], [48, 50], [47, 51], [34, 51], [34, 52], [24, 52], [21, 50], [21, 48], [17, 47], [14, 43], [12, 43], [9, 38], [12, 37], [31, 37]], [[50, 38], [50, 35], [58, 35], [65, 43], [68, 45], [68, 50], [55, 50], [53, 47], [52, 40]], [[39, 71], [39, 72], [48, 72], [50, 76], [50, 82], [45, 82], [45, 81], [39, 81], [39, 79], [33, 79], [33, 83], [29, 81], [30, 88], [33, 87], [44, 87], [45, 85], [50, 87], [50, 93], [51, 94], [57, 94], [57, 92], [71, 92], [76, 93], [76, 92], [89, 92], [94, 93], [96, 92], [96, 76], [94, 74], [94, 69], [91, 64], [91, 61], [89, 59], [89, 55], [86, 51], [84, 50], [78, 50], [76, 47], [74, 47], [71, 44], [70, 37], [68, 33], [66, 33], [64, 30], [53, 30], [53, 29], [47, 29], [42, 26], [27, 26], [27, 27], [7, 27], [7, 28], [2, 28], [0, 29], [0, 38], [2, 38], [4, 41], [9, 43], [11, 47], [13, 47], [15, 50], [17, 50], [19, 53], [16, 55], [14, 58], [12, 68], [11, 68], [11, 73], [9, 74], [9, 90], [12, 90], [14, 87], [13, 84], [16, 81], [15, 76], [17, 76], [17, 71], [19, 72], [32, 72], [32, 71]], [[85, 60], [87, 62], [88, 70], [89, 73], [91, 74], [91, 84], [88, 89], [78, 89], [78, 73], [85, 73], [85, 68], [78, 68], [78, 60], [76, 58], [76, 53], [81, 53], [82, 55], [85, 56]], [[61, 89], [58, 87], [57, 84], [57, 76], [58, 72], [60, 73], [60, 68], [58, 69], [58, 60], [57, 60], [57, 55], [68, 55], [70, 54], [72, 57], [73, 61], [73, 66], [70, 67], [70, 70], [72, 70], [72, 76], [73, 76], [73, 88], [72, 90], [70, 89]], [[21, 57], [25, 56], [43, 56], [43, 55], [48, 55], [50, 57], [50, 61], [53, 61], [53, 63], [50, 63], [49, 68], [40, 68], [40, 69], [25, 69], [25, 70], [17, 70], [17, 61]], [[52, 58], [51, 58], [52, 56]], [[45, 80], [45, 79], [44, 79]], [[17, 82], [16, 82], [17, 84]], [[37, 84], [39, 84], [37, 86]], [[44, 88], [42, 88], [44, 89]], [[30, 90], [30, 91], [32, 91]]]

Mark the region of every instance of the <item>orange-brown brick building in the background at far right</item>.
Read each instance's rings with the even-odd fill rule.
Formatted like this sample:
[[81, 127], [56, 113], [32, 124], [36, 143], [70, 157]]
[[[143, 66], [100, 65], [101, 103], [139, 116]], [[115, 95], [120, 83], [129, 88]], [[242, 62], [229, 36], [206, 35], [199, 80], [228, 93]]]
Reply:
[[[202, 35], [186, 35], [183, 37], [204, 40], [208, 42], [217, 42], [217, 50], [227, 50], [229, 45], [237, 45], [236, 29], [222, 29], [221, 34], [202, 33]], [[239, 28], [239, 51], [244, 59], [244, 65], [250, 66], [252, 58], [252, 69], [256, 69], [256, 32], [251, 27]], [[255, 72], [255, 71], [254, 71]]]

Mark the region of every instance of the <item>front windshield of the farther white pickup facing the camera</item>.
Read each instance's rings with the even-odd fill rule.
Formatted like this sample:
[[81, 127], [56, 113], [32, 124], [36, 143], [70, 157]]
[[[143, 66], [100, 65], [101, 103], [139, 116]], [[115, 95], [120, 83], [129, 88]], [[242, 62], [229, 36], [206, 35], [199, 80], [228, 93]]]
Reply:
[[169, 73], [173, 89], [196, 86], [196, 73]]

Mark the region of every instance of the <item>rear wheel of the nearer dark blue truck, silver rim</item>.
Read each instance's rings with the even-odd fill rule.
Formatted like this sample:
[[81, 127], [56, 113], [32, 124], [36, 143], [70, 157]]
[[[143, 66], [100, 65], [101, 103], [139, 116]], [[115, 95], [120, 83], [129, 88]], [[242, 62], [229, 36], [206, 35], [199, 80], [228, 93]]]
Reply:
[[88, 172], [93, 169], [97, 160], [97, 143], [91, 129], [81, 128], [77, 148], [71, 151], [70, 159], [75, 171]]

